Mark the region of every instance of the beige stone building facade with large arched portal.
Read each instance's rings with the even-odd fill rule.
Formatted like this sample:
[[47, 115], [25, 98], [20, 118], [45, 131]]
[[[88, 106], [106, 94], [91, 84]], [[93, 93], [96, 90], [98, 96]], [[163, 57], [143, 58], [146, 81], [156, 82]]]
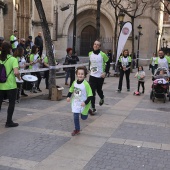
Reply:
[[[2, 17], [4, 19], [4, 30], [0, 33], [5, 39], [9, 39], [12, 31], [17, 29], [19, 37], [27, 38], [32, 35], [37, 36], [41, 29], [40, 19], [34, 4], [34, 0], [4, 0], [8, 4], [8, 14]], [[113, 49], [114, 41], [114, 9], [107, 0], [102, 0], [100, 33], [102, 40], [102, 50]], [[51, 38], [55, 45], [56, 57], [62, 58], [66, 54], [66, 48], [72, 47], [73, 41], [73, 19], [74, 19], [74, 0], [42, 0], [47, 21], [51, 31]], [[70, 8], [61, 11], [61, 6], [66, 4]], [[79, 56], [87, 56], [92, 49], [93, 41], [96, 35], [96, 12], [97, 0], [78, 0], [77, 2], [77, 24], [76, 24], [76, 52]], [[125, 16], [124, 21], [130, 21]], [[161, 30], [163, 23], [162, 14], [148, 9], [145, 13], [135, 19], [135, 35], [138, 34], [137, 26], [142, 25], [140, 41], [140, 56], [148, 58], [156, 50], [156, 30]], [[3, 32], [3, 33], [2, 33]], [[131, 39], [126, 43], [125, 48], [131, 51]], [[135, 42], [135, 52], [137, 51], [137, 41]]]

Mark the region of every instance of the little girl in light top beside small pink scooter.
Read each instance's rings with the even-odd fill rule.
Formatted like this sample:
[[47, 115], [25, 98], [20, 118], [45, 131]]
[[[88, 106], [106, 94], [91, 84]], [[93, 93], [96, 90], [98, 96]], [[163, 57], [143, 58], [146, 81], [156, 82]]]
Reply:
[[138, 72], [135, 74], [135, 77], [138, 79], [138, 92], [139, 92], [139, 89], [140, 89], [140, 85], [142, 85], [142, 88], [143, 88], [142, 93], [144, 93], [145, 92], [145, 86], [144, 86], [145, 72], [144, 72], [142, 66], [138, 67]]

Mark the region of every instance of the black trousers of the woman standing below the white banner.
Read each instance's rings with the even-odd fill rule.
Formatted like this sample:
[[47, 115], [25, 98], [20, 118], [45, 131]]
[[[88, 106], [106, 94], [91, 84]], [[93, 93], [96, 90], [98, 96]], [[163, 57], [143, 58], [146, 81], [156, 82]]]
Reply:
[[118, 85], [118, 89], [121, 91], [122, 90], [122, 83], [123, 83], [123, 76], [126, 76], [126, 86], [127, 89], [130, 89], [130, 69], [123, 71], [122, 69], [120, 69], [120, 77], [119, 77], [119, 85]]

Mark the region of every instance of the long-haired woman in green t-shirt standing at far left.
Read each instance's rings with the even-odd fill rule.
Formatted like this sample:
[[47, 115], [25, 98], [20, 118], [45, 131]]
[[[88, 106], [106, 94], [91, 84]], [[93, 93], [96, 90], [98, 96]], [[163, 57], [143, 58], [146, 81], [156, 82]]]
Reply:
[[18, 61], [15, 57], [11, 56], [12, 47], [9, 43], [4, 42], [2, 44], [1, 54], [0, 54], [0, 64], [3, 64], [6, 69], [7, 79], [6, 82], [0, 83], [0, 110], [2, 101], [5, 95], [9, 99], [9, 106], [7, 110], [7, 121], [5, 127], [16, 127], [18, 123], [14, 123], [12, 120], [15, 99], [17, 93], [17, 84], [15, 76], [20, 80], [20, 74], [18, 71]]

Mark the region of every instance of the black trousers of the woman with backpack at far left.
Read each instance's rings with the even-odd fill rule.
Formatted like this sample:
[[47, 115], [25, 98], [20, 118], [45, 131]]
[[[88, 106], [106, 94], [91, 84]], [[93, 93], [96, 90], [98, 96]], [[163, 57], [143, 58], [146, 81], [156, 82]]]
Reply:
[[0, 90], [0, 110], [1, 110], [4, 96], [7, 95], [7, 98], [9, 99], [9, 105], [8, 105], [8, 110], [7, 110], [7, 121], [6, 121], [7, 123], [12, 122], [12, 116], [13, 116], [14, 108], [15, 108], [16, 94], [17, 94], [17, 89]]

